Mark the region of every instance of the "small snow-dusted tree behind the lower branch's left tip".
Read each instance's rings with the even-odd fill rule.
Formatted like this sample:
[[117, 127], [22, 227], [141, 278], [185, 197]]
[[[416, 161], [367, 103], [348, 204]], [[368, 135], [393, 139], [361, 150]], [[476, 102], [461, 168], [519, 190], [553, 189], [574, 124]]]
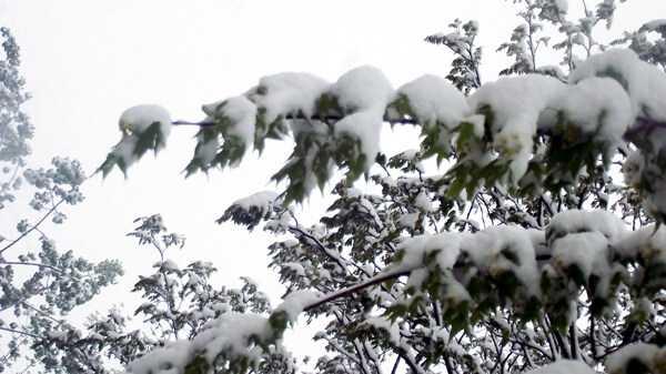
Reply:
[[[125, 366], [151, 350], [179, 338], [192, 340], [223, 314], [272, 312], [268, 295], [250, 277], [242, 279], [241, 289], [215, 289], [210, 277], [216, 269], [210, 262], [194, 261], [181, 269], [165, 257], [170, 247], [183, 247], [184, 237], [167, 233], [161, 215], [135, 222], [140, 225], [128, 236], [137, 237], [140, 245], [151, 246], [159, 254], [153, 264], [155, 272], [141, 275], [132, 290], [140, 292], [145, 301], [134, 311], [134, 316], [142, 317], [142, 324], [131, 328], [131, 317], [114, 309], [104, 317], [91, 316], [85, 333], [60, 334], [41, 342], [44, 350], [84, 353], [68, 356], [70, 372], [112, 373], [108, 368], [111, 362]], [[273, 350], [262, 355], [258, 372], [295, 373], [294, 364], [289, 352]]]

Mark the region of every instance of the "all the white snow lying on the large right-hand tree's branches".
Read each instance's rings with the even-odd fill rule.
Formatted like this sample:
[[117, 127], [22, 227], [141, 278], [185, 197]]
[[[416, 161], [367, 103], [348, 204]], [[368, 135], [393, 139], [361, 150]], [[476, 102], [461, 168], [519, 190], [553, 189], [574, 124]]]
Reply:
[[[559, 12], [566, 12], [568, 7], [564, 0], [555, 0], [553, 4]], [[664, 22], [654, 27], [660, 27]], [[344, 112], [344, 117], [334, 124], [333, 135], [350, 135], [352, 140], [359, 140], [360, 152], [367, 158], [366, 166], [372, 164], [374, 155], [380, 151], [384, 112], [397, 94], [405, 94], [410, 99], [415, 117], [424, 127], [443, 125], [446, 130], [452, 130], [462, 121], [471, 121], [477, 135], [483, 133], [484, 118], [472, 114], [484, 105], [490, 105], [493, 113], [491, 132], [494, 151], [500, 158], [511, 161], [511, 182], [517, 182], [525, 174], [537, 131], [554, 130], [558, 119], [565, 119], [582, 133], [592, 135], [593, 141], [603, 142], [613, 152], [614, 148], [623, 146], [623, 135], [630, 129], [637, 115], [666, 120], [665, 75], [654, 67], [640, 62], [634, 52], [626, 50], [609, 50], [592, 57], [572, 74], [569, 84], [536, 74], [504, 78], [485, 84], [470, 98], [465, 98], [444, 79], [433, 75], [418, 78], [394, 91], [386, 77], [371, 67], [354, 69], [332, 85], [310, 74], [283, 73], [262, 78], [259, 87], [264, 88], [265, 92], [258, 89], [248, 95], [225, 101], [222, 110], [233, 122], [228, 129], [228, 135], [235, 135], [245, 144], [250, 144], [254, 141], [258, 105], [266, 110], [269, 122], [279, 115], [293, 112], [302, 112], [310, 117], [314, 112], [316, 99], [327, 92], [337, 99]], [[150, 112], [134, 110], [128, 114], [123, 113], [121, 127], [129, 131], [142, 131], [152, 123], [148, 121], [155, 118], [154, 111], [151, 115], [147, 114]], [[317, 121], [313, 123], [304, 120], [291, 121], [290, 127], [295, 138], [303, 131], [320, 134], [324, 139], [330, 135], [327, 124]], [[665, 149], [666, 132], [657, 131], [654, 134], [650, 141], [657, 144], [656, 149]], [[445, 135], [444, 140], [450, 141]], [[200, 146], [199, 155], [204, 161], [212, 160], [219, 148], [218, 140]], [[128, 137], [119, 143], [114, 152], [123, 159], [127, 158], [125, 162], [129, 164], [133, 161], [133, 145], [135, 140]], [[487, 162], [490, 153], [492, 152], [484, 153], [486, 159], [480, 156], [480, 160]], [[416, 154], [416, 151], [407, 151], [403, 155], [413, 160]], [[493, 153], [491, 156], [494, 155]], [[642, 152], [635, 152], [627, 158], [627, 183], [637, 185], [648, 173], [662, 175], [660, 170], [654, 169], [656, 161], [646, 160]], [[384, 181], [390, 185], [397, 183], [390, 176], [384, 178]], [[666, 182], [663, 179], [657, 182], [662, 184], [656, 184], [658, 188], [654, 192], [644, 194], [647, 213], [666, 211]], [[350, 189], [346, 193], [349, 198], [359, 198], [357, 206], [379, 220], [375, 208], [363, 196], [362, 191]], [[265, 214], [273, 211], [276, 198], [274, 192], [260, 192], [238, 200], [234, 205], [245, 210], [256, 209]], [[425, 212], [435, 209], [426, 190], [416, 195], [413, 206]], [[404, 213], [397, 219], [397, 223], [414, 228], [418, 216], [420, 213], [415, 212]], [[282, 214], [266, 228], [284, 231], [290, 220], [291, 214]], [[536, 222], [534, 224], [536, 225]], [[579, 270], [585, 281], [596, 275], [595, 295], [610, 299], [613, 295], [609, 294], [609, 282], [617, 270], [612, 267], [609, 260], [617, 255], [632, 260], [642, 257], [650, 264], [666, 264], [666, 229], [655, 230], [654, 226], [648, 226], [630, 232], [612, 212], [572, 210], [556, 214], [545, 233], [505, 225], [491, 226], [474, 234], [424, 234], [404, 240], [398, 245], [398, 253], [402, 253], [402, 257], [398, 256], [395, 263], [387, 265], [383, 270], [384, 273], [411, 271], [407, 287], [418, 290], [430, 272], [440, 271], [443, 273], [442, 292], [447, 301], [471, 300], [465, 284], [468, 284], [473, 276], [500, 277], [507, 272], [518, 280], [517, 297], [542, 297], [541, 272], [545, 275], [561, 276], [573, 266]], [[552, 254], [552, 262], [539, 270], [536, 256], [548, 253]], [[461, 259], [466, 261], [464, 277], [453, 275], [453, 267]], [[311, 273], [311, 269], [305, 269], [302, 263], [284, 262], [281, 266], [299, 276], [305, 276], [306, 270]], [[324, 279], [331, 277], [329, 271], [314, 271]], [[460, 275], [460, 272], [456, 275]], [[275, 311], [285, 312], [290, 321], [295, 321], [303, 309], [315, 302], [316, 297], [316, 294], [309, 291], [292, 292]], [[635, 302], [636, 307], [645, 311], [650, 304], [645, 299]], [[575, 315], [575, 305], [571, 311]], [[387, 324], [386, 319], [371, 317], [365, 323], [386, 330], [392, 336], [397, 334], [396, 326]], [[184, 354], [185, 351], [189, 352], [186, 354], [192, 354], [205, 347], [211, 360], [213, 354], [222, 351], [233, 352], [232, 356], [250, 354], [258, 357], [256, 347], [248, 348], [246, 337], [250, 333], [260, 336], [268, 334], [265, 319], [241, 317], [226, 313], [208, 326], [191, 344], [176, 342], [157, 352], [180, 350], [180, 354]], [[666, 352], [654, 346], [646, 348], [639, 344], [627, 346], [609, 356], [607, 367], [622, 367], [628, 360], [626, 357], [632, 355], [638, 355], [640, 360], [645, 358], [648, 362], [657, 354]], [[167, 358], [184, 360], [179, 355], [173, 357], [169, 353], [148, 354], [128, 366], [128, 370], [143, 373], [143, 367], [159, 367]], [[152, 365], [141, 366], [141, 360], [152, 360]], [[175, 366], [180, 367], [179, 365]], [[594, 373], [585, 363], [574, 361], [558, 361], [532, 373], [561, 372]]]

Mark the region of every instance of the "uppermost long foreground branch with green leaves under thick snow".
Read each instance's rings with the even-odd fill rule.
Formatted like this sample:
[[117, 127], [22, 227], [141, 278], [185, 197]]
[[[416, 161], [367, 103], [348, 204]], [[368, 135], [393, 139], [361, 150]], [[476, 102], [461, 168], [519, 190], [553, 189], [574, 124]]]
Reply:
[[[273, 180], [286, 180], [286, 202], [323, 188], [335, 168], [350, 181], [365, 173], [380, 152], [382, 123], [422, 127], [424, 158], [455, 159], [450, 194], [472, 196], [481, 185], [503, 184], [523, 193], [575, 184], [599, 158], [608, 163], [633, 142], [638, 154], [664, 148], [666, 77], [630, 50], [591, 57], [568, 84], [541, 74], [502, 78], [470, 97], [441, 78], [426, 75], [393, 89], [371, 67], [354, 69], [335, 83], [305, 73], [265, 77], [241, 97], [205, 105], [188, 173], [238, 164], [266, 138], [295, 140], [294, 153]], [[128, 110], [123, 139], [100, 168], [121, 170], [148, 149], [158, 151], [169, 131], [168, 113], [153, 105]], [[586, 148], [585, 152], [572, 152]], [[648, 212], [666, 211], [660, 179], [644, 171], [654, 161], [630, 158], [627, 168], [648, 201]], [[632, 164], [633, 165], [633, 164]], [[638, 174], [636, 174], [636, 172]]]

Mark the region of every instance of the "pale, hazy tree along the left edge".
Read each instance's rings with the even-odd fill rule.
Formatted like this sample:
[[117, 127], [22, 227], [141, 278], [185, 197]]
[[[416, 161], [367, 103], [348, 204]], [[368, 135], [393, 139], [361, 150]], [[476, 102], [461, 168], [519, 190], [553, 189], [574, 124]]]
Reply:
[[[0, 234], [0, 332], [7, 347], [0, 352], [0, 371], [27, 371], [38, 365], [64, 373], [70, 372], [63, 364], [68, 355], [43, 350], [40, 344], [74, 334], [65, 320], [68, 312], [90, 301], [122, 271], [118, 261], [94, 264], [75, 257], [71, 251], [59, 252], [42, 230], [49, 218], [56, 224], [64, 221], [59, 210], [62, 204], [83, 200], [79, 186], [85, 176], [79, 162], [67, 158], [53, 158], [50, 169], [27, 168], [34, 128], [21, 111], [29, 95], [23, 92], [24, 80], [19, 73], [20, 50], [8, 29], [0, 28], [0, 33], [4, 52], [0, 59], [0, 211], [4, 213]], [[23, 181], [34, 190], [32, 199]], [[14, 231], [9, 222], [16, 220], [12, 214], [18, 202], [26, 202], [39, 215], [19, 220]], [[37, 250], [24, 245], [33, 235], [41, 244]], [[80, 353], [72, 350], [69, 354]]]

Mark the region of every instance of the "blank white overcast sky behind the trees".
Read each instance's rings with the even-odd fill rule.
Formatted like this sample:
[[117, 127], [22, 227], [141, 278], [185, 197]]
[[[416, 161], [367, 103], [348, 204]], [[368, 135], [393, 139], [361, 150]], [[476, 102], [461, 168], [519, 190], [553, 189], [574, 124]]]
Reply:
[[[569, 3], [571, 11], [581, 11], [582, 1]], [[448, 32], [455, 18], [480, 22], [482, 78], [494, 80], [508, 63], [495, 50], [521, 23], [516, 11], [502, 0], [0, 0], [0, 26], [9, 27], [21, 47], [21, 72], [33, 94], [23, 108], [37, 128], [30, 165], [69, 155], [91, 173], [120, 139], [120, 113], [134, 104], [159, 103], [174, 119], [196, 121], [201, 104], [242, 93], [270, 73], [307, 71], [335, 81], [372, 64], [395, 87], [424, 73], [445, 75], [451, 53], [423, 38]], [[615, 30], [635, 30], [662, 17], [666, 1], [630, 0], [619, 4]], [[104, 182], [88, 181], [87, 200], [65, 209], [65, 225], [47, 228], [60, 250], [123, 262], [124, 280], [95, 302], [102, 312], [111, 301], [127, 300], [137, 275], [151, 271], [154, 253], [124, 235], [133, 219], [158, 212], [170, 230], [188, 236], [182, 253], [171, 253], [181, 265], [203, 259], [228, 284], [250, 275], [273, 294], [281, 290], [265, 270], [271, 237], [214, 220], [234, 200], [272, 189], [266, 182], [290, 145], [269, 144], [265, 158], [239, 170], [183, 180], [192, 134], [193, 129], [174, 129], [167, 151], [145, 156], [127, 180], [113, 172]], [[312, 216], [322, 212], [320, 200], [315, 194], [307, 208], [319, 210]]]

